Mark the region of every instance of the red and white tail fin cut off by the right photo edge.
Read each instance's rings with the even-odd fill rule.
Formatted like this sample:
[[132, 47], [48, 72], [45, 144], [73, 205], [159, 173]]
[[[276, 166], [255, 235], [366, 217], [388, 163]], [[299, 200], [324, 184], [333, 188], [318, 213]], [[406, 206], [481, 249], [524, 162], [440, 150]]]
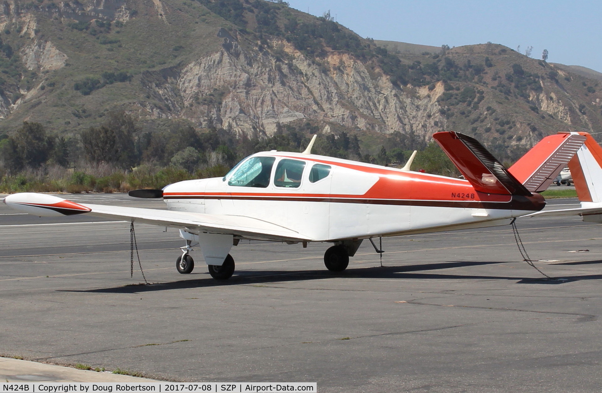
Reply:
[[586, 132], [585, 144], [568, 163], [579, 201], [602, 202], [602, 147]]

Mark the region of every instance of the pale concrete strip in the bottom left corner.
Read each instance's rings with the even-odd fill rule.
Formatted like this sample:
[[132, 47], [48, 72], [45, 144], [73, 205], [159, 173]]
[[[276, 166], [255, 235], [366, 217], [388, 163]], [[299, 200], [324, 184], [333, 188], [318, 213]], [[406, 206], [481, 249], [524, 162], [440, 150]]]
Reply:
[[52, 364], [0, 358], [2, 382], [161, 382], [128, 375], [97, 373]]

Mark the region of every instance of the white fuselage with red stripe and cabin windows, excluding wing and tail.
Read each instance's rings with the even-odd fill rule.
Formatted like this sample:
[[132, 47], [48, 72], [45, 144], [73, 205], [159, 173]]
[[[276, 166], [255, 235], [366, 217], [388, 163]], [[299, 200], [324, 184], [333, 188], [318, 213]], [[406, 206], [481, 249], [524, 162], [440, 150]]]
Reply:
[[488, 194], [459, 178], [278, 151], [223, 178], [170, 184], [163, 198], [169, 210], [257, 218], [316, 241], [504, 225], [545, 205], [537, 193]]

